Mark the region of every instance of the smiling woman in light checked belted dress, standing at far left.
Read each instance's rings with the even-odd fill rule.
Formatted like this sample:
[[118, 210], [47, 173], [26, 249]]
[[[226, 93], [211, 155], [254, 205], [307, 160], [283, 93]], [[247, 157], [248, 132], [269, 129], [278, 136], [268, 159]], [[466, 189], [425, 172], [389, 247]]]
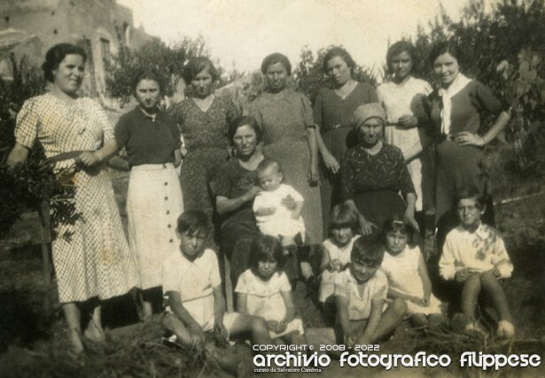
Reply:
[[54, 167], [56, 171], [74, 171], [75, 208], [80, 217], [74, 224], [61, 223], [58, 235], [70, 237], [59, 236], [52, 243], [58, 299], [70, 332], [71, 352], [79, 354], [83, 351], [82, 310], [91, 313], [83, 336], [104, 340], [98, 300], [127, 293], [138, 279], [112, 183], [101, 164], [109, 158], [105, 151], [115, 143], [113, 128], [100, 105], [76, 95], [82, 84], [85, 52], [61, 43], [53, 46], [45, 59], [43, 71], [51, 90], [23, 104], [15, 127], [16, 143], [7, 163], [24, 163], [36, 141], [42, 144], [47, 158], [82, 151], [77, 158]]

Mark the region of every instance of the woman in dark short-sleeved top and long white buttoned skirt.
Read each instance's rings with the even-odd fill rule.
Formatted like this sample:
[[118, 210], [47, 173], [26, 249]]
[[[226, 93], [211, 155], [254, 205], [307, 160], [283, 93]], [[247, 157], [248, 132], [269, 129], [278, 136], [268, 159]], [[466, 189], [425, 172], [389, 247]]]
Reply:
[[128, 155], [128, 245], [138, 261], [147, 319], [161, 297], [162, 262], [178, 245], [175, 228], [183, 198], [175, 166], [181, 161], [181, 139], [175, 121], [158, 107], [159, 74], [137, 73], [133, 89], [138, 105], [121, 116], [114, 134], [117, 147], [125, 147]]

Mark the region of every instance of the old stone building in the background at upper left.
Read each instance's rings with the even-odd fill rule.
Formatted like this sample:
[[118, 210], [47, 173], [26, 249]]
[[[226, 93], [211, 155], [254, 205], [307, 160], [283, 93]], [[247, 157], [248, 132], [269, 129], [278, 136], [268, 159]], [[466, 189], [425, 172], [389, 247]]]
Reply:
[[87, 51], [82, 90], [105, 95], [105, 62], [121, 46], [138, 49], [159, 38], [136, 28], [132, 11], [115, 0], [0, 1], [0, 77], [9, 79], [10, 55], [25, 66], [40, 67], [45, 52], [56, 43], [70, 42]]

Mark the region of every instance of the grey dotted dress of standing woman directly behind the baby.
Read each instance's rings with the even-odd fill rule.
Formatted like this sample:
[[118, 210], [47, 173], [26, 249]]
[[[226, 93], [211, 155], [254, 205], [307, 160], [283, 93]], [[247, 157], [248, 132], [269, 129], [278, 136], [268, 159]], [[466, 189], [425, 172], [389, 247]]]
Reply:
[[263, 92], [250, 104], [249, 113], [263, 130], [263, 152], [280, 163], [285, 183], [305, 198], [301, 216], [308, 243], [322, 243], [320, 189], [308, 184], [310, 151], [306, 128], [314, 127], [308, 98], [290, 89], [274, 94]]

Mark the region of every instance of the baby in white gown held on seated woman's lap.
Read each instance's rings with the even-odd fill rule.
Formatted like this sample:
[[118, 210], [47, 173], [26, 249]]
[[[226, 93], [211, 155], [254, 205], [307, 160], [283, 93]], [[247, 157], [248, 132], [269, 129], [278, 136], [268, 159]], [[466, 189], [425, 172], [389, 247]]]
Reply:
[[[280, 164], [272, 158], [263, 159], [257, 166], [257, 179], [261, 192], [253, 200], [253, 213], [261, 233], [280, 237], [284, 246], [295, 244], [297, 235], [304, 242], [305, 224], [300, 216], [304, 199], [282, 183], [284, 174]], [[293, 209], [283, 204], [286, 197], [294, 200]]]

